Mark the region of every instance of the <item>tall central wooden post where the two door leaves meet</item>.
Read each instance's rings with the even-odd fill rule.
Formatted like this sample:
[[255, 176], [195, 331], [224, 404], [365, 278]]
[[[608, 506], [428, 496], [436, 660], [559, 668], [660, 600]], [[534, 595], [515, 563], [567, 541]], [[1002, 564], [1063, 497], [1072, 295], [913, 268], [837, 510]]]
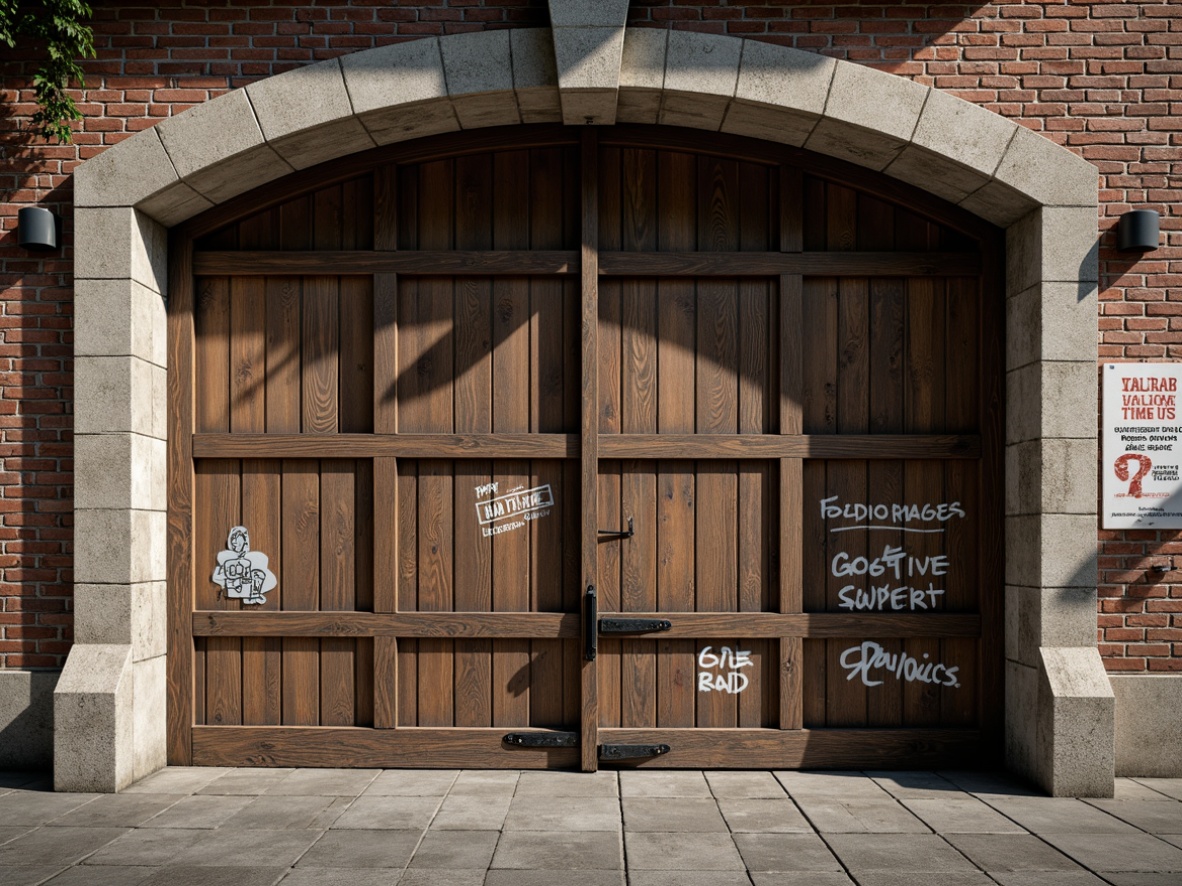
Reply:
[[[582, 334], [580, 393], [583, 396], [579, 421], [580, 476], [579, 500], [583, 502], [579, 547], [582, 551], [582, 579], [584, 588], [595, 587], [598, 578], [598, 476], [599, 476], [599, 384], [598, 384], [598, 317], [599, 317], [599, 194], [598, 194], [598, 137], [587, 126], [580, 136], [582, 243], [580, 281], [582, 298], [579, 317]], [[586, 619], [586, 611], [583, 612]], [[584, 628], [587, 626], [584, 625]], [[580, 764], [584, 771], [599, 768], [599, 710], [597, 702], [596, 663], [584, 659], [582, 678], [583, 710], [579, 727]]]

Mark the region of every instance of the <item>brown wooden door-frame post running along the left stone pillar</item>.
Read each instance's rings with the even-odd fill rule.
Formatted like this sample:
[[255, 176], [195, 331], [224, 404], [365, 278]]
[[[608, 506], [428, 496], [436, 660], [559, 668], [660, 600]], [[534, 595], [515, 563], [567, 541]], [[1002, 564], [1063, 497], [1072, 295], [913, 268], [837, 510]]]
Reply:
[[169, 239], [168, 300], [168, 662], [170, 766], [193, 762], [193, 241]]

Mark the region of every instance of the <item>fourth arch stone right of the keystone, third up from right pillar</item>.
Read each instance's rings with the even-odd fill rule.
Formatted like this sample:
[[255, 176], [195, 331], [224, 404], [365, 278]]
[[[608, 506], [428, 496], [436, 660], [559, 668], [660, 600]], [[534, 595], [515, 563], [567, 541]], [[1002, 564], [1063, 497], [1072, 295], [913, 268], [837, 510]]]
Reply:
[[911, 138], [929, 90], [851, 61], [833, 71], [825, 113], [805, 148], [884, 169]]

